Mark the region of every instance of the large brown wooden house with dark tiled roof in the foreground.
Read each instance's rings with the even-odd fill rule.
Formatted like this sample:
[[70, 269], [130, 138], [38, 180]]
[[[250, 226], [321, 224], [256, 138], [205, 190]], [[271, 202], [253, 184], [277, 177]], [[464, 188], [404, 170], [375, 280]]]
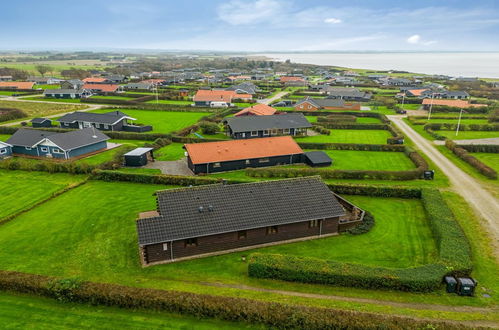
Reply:
[[214, 184], [156, 193], [137, 220], [143, 265], [174, 262], [337, 234], [364, 211], [320, 177]]

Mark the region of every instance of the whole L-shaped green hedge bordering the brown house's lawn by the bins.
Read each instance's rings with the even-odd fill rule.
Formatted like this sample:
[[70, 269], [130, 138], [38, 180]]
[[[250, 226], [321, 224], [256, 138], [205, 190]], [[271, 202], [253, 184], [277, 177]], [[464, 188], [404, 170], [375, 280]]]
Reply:
[[[412, 189], [409, 195], [416, 195], [416, 190]], [[254, 253], [249, 258], [248, 274], [258, 278], [303, 283], [415, 292], [438, 289], [447, 274], [468, 276], [472, 270], [471, 249], [452, 211], [438, 190], [425, 188], [419, 189], [419, 193], [437, 243], [437, 263], [392, 269], [309, 257]]]

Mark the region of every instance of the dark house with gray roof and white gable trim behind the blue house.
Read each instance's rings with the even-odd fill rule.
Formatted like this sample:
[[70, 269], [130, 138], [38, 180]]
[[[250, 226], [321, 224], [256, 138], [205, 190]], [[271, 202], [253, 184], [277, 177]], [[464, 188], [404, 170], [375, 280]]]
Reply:
[[95, 127], [103, 131], [148, 132], [151, 126], [136, 126], [128, 124], [127, 120], [136, 120], [121, 111], [107, 113], [92, 113], [75, 111], [57, 119], [62, 128]]

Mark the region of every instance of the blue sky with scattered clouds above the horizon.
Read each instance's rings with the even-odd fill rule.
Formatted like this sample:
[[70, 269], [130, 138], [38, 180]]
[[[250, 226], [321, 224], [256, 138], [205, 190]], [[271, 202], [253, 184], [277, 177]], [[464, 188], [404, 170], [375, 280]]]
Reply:
[[23, 0], [0, 49], [499, 51], [499, 0]]

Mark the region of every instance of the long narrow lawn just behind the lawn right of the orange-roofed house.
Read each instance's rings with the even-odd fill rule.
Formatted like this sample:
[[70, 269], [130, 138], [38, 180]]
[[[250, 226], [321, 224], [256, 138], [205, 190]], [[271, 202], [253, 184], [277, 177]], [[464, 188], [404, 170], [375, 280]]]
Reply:
[[386, 144], [391, 134], [385, 130], [332, 129], [331, 135], [296, 138], [298, 142]]

